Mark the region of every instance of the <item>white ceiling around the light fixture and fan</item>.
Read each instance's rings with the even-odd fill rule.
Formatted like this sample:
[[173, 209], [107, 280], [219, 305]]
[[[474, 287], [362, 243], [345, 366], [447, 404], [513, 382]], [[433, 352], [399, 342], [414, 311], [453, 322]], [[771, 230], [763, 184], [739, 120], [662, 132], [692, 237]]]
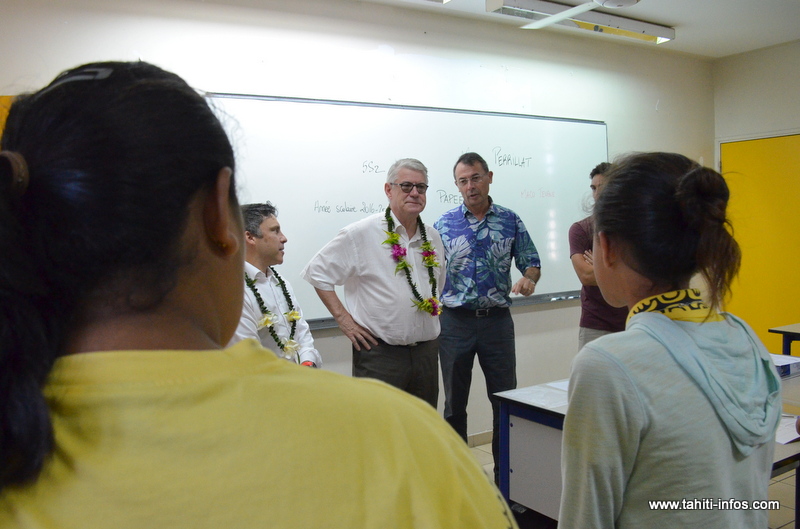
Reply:
[[[561, 31], [586, 38], [609, 38], [558, 25], [538, 30], [518, 30], [517, 27], [529, 21], [487, 13], [484, 0], [450, 0], [447, 4], [429, 0], [362, 1], [423, 9], [454, 17], [491, 20], [508, 24], [515, 31]], [[556, 1], [569, 7], [590, 0]], [[597, 11], [673, 27], [675, 40], [659, 44], [658, 48], [712, 59], [800, 40], [800, 0], [641, 0], [628, 8]], [[623, 41], [617, 37], [611, 38]], [[628, 42], [628, 39], [624, 39], [624, 42]], [[631, 44], [655, 46], [638, 42]]]

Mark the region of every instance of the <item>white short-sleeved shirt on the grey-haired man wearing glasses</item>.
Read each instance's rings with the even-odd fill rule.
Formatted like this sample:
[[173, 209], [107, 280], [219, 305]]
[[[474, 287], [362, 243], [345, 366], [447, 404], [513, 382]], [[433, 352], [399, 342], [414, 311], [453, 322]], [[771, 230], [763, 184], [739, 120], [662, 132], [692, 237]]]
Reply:
[[[395, 232], [406, 249], [411, 278], [423, 299], [431, 297], [428, 269], [422, 262], [422, 236], [418, 229], [408, 234], [392, 214]], [[383, 244], [388, 229], [383, 213], [371, 215], [342, 228], [301, 272], [300, 276], [320, 290], [344, 285], [344, 304], [353, 319], [390, 345], [408, 345], [439, 336], [439, 317], [417, 310], [414, 295], [391, 247]], [[439, 232], [425, 225], [428, 240], [436, 250], [439, 266], [434, 268], [438, 298], [445, 279], [444, 246]]]

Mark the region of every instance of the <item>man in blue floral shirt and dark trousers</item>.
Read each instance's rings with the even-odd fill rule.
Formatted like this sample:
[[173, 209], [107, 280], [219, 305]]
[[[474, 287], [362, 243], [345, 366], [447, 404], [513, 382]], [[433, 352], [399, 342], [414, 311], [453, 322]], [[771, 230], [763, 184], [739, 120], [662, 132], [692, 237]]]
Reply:
[[[434, 224], [442, 236], [447, 281], [439, 335], [445, 389], [444, 418], [467, 440], [467, 399], [475, 355], [492, 402], [495, 481], [499, 466], [500, 405], [492, 397], [517, 386], [510, 293], [530, 296], [541, 275], [539, 253], [516, 213], [492, 202], [492, 172], [477, 153], [453, 168], [464, 203]], [[511, 284], [511, 259], [523, 277]]]

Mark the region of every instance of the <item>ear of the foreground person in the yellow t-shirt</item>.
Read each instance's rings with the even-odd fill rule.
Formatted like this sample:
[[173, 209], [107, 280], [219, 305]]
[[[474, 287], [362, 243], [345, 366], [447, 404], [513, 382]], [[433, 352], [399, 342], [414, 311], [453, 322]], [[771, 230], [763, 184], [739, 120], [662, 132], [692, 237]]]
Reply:
[[231, 204], [233, 171], [223, 167], [203, 204], [203, 222], [211, 247], [219, 255], [234, 255], [239, 250], [242, 231], [239, 211]]

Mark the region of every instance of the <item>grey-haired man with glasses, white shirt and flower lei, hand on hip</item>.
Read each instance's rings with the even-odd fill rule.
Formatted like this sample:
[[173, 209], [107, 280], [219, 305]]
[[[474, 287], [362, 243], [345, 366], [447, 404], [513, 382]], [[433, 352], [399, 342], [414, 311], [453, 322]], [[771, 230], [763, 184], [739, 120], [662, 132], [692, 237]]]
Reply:
[[[395, 162], [386, 211], [342, 228], [301, 276], [352, 342], [353, 376], [383, 380], [435, 408], [444, 248], [420, 219], [427, 189], [422, 162]], [[344, 285], [344, 304], [335, 285]]]

